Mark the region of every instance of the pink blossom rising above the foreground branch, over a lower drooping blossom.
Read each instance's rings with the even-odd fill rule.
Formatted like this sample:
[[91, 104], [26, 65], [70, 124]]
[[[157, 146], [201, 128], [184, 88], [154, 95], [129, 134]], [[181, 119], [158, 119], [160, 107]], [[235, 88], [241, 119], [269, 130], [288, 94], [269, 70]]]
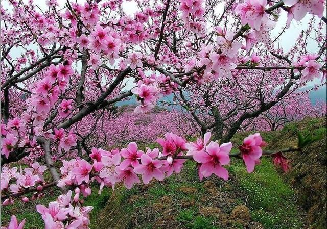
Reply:
[[142, 150], [137, 149], [137, 144], [135, 142], [131, 142], [128, 144], [127, 148], [123, 148], [121, 150], [121, 155], [126, 158], [122, 161], [120, 165], [120, 169], [124, 170], [129, 165], [132, 165], [134, 168], [139, 166], [139, 159], [144, 154]]

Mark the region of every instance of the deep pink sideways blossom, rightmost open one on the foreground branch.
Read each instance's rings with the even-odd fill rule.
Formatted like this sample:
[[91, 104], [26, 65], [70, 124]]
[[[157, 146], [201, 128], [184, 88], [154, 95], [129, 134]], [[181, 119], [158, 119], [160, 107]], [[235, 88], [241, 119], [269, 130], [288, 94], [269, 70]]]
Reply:
[[241, 145], [239, 149], [247, 172], [251, 173], [254, 170], [255, 163], [259, 161], [262, 155], [261, 147], [265, 144], [265, 141], [262, 140], [259, 133], [250, 134], [244, 139], [243, 145]]

